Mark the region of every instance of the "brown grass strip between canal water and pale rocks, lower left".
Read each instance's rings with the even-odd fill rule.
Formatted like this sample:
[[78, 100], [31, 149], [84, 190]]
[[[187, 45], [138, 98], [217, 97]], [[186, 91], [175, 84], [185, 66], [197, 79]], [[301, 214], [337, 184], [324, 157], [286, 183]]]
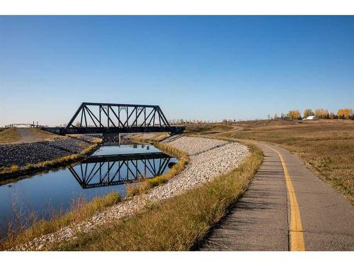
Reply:
[[67, 214], [57, 214], [49, 220], [35, 221], [27, 229], [15, 228], [13, 231], [8, 231], [6, 240], [0, 242], [0, 250], [15, 248], [18, 245], [30, 242], [34, 238], [58, 231], [64, 226], [85, 221], [98, 211], [117, 204], [119, 201], [120, 196], [116, 192], [96, 197], [89, 202], [86, 202], [84, 198], [80, 198], [72, 204], [71, 210]]

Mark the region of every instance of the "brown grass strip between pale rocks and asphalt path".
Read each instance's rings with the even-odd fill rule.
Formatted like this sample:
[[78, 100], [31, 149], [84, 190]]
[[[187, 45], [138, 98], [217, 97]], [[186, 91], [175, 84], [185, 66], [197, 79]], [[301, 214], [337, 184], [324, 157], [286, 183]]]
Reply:
[[228, 174], [181, 196], [161, 201], [137, 216], [120, 220], [52, 250], [190, 250], [227, 214], [244, 193], [263, 158], [249, 146], [251, 156]]

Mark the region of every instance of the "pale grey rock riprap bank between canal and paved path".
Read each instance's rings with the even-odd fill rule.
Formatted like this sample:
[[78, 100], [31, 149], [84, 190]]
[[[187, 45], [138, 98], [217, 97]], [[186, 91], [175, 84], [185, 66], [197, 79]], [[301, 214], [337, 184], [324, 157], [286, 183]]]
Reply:
[[75, 238], [76, 233], [89, 233], [98, 226], [110, 223], [114, 219], [132, 216], [149, 204], [183, 194], [188, 189], [209, 182], [219, 174], [231, 171], [249, 155], [246, 146], [223, 140], [207, 138], [181, 137], [169, 143], [190, 155], [190, 162], [181, 173], [165, 184], [154, 187], [147, 194], [112, 206], [96, 214], [89, 221], [74, 224], [61, 230], [35, 238], [33, 241], [14, 250], [41, 250], [47, 245], [62, 243]]

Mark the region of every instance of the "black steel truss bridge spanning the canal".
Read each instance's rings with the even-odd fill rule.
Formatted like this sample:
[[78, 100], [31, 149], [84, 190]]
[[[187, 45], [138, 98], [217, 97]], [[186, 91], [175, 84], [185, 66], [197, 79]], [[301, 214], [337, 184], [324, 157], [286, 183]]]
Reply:
[[157, 105], [103, 104], [84, 102], [65, 128], [43, 128], [53, 133], [181, 133], [184, 128], [170, 126]]

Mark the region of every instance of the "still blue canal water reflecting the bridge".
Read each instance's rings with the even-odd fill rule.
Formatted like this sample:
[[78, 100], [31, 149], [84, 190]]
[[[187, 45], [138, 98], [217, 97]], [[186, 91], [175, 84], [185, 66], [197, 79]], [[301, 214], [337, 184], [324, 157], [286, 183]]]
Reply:
[[153, 145], [104, 143], [80, 163], [0, 186], [0, 234], [9, 222], [26, 224], [29, 214], [50, 217], [83, 197], [124, 197], [127, 184], [168, 172], [176, 162]]

